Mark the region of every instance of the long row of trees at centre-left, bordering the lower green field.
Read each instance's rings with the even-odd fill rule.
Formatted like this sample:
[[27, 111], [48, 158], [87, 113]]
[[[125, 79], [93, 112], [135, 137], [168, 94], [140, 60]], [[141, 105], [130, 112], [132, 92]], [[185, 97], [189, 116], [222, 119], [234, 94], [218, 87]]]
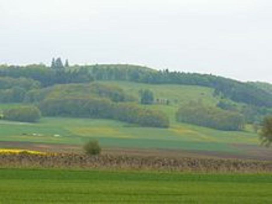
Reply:
[[132, 103], [115, 103], [106, 98], [48, 98], [39, 103], [39, 108], [45, 116], [108, 118], [141, 126], [169, 127], [169, 119], [160, 111]]

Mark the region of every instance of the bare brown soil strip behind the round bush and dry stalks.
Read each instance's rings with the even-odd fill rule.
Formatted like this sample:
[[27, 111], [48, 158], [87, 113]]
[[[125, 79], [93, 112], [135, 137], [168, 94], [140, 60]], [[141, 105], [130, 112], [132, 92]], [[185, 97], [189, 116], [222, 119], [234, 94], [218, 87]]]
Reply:
[[[130, 155], [130, 156], [163, 156], [172, 158], [192, 157], [192, 158], [214, 158], [214, 159], [249, 159], [272, 161], [272, 149], [265, 147], [252, 147], [250, 145], [233, 144], [247, 154], [224, 153], [218, 151], [200, 150], [168, 150], [168, 149], [135, 149], [135, 148], [102, 148], [102, 154]], [[42, 152], [56, 153], [83, 153], [81, 145], [67, 144], [47, 144], [0, 141], [1, 148], [17, 148], [27, 150], [37, 150]]]

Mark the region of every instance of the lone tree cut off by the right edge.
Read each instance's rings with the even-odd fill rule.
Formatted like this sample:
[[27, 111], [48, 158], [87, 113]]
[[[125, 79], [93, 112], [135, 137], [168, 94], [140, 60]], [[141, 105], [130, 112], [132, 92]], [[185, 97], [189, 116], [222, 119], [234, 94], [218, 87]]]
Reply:
[[272, 116], [264, 118], [264, 123], [260, 135], [261, 144], [269, 147], [272, 143]]

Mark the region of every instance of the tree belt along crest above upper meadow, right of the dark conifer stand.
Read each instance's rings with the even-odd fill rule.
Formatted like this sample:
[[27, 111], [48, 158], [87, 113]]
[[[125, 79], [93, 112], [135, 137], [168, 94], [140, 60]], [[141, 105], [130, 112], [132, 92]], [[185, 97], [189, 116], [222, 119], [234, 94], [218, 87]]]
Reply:
[[208, 74], [184, 73], [169, 70], [156, 71], [134, 65], [94, 65], [88, 68], [97, 80], [127, 80], [151, 84], [198, 85], [215, 89], [220, 95], [236, 102], [272, 107], [272, 93], [236, 80]]

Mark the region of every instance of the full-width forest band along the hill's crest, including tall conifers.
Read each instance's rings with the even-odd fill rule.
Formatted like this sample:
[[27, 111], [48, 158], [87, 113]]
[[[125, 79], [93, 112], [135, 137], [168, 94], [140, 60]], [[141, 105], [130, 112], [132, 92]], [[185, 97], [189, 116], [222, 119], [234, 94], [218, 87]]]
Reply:
[[[96, 64], [69, 66], [54, 62], [51, 67], [43, 64], [27, 66], [0, 66], [0, 89], [11, 78], [31, 78], [41, 87], [54, 84], [84, 83], [93, 80], [125, 80], [149, 84], [198, 85], [214, 88], [214, 94], [254, 106], [272, 107], [272, 93], [254, 83], [239, 82], [211, 74], [157, 71], [148, 67], [124, 64]], [[3, 78], [9, 77], [9, 78]], [[10, 82], [13, 83], [13, 82]]]

